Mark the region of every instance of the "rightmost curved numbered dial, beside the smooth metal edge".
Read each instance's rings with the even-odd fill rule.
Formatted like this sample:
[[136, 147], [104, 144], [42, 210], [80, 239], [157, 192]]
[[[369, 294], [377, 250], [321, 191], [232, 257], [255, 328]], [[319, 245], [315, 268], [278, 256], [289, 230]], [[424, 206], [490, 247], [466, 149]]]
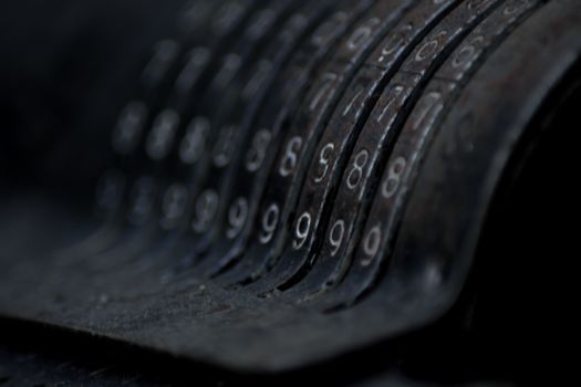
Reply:
[[[339, 270], [334, 272], [338, 278], [331, 276], [332, 281], [338, 281], [343, 270], [347, 272], [339, 287], [320, 300], [323, 305], [350, 305], [377, 283], [388, 264], [402, 208], [429, 138], [435, 135], [446, 112], [453, 107], [461, 88], [486, 60], [488, 52], [539, 4], [539, 1], [507, 1], [464, 36], [446, 57], [416, 103], [385, 164], [371, 209], [362, 211], [364, 216], [360, 215], [357, 224], [362, 226], [362, 232], [356, 247], [353, 247], [352, 264], [335, 269]], [[340, 218], [336, 216], [335, 219]]]

